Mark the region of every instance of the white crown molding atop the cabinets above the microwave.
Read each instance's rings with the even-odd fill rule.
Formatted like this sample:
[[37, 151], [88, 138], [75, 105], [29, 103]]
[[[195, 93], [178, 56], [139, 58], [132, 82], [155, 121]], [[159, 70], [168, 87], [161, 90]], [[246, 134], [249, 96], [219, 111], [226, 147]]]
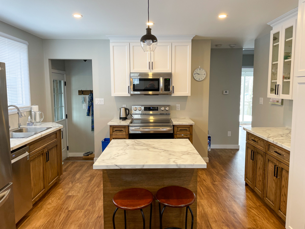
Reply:
[[[158, 41], [192, 42], [195, 35], [156, 35]], [[134, 35], [106, 35], [110, 42], [139, 42], [142, 36]]]

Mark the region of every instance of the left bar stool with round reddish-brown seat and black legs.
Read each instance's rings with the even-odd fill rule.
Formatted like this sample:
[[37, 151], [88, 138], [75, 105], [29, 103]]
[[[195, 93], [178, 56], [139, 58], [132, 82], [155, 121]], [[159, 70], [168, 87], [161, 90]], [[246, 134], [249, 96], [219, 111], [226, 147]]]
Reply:
[[143, 229], [145, 229], [145, 217], [142, 209], [146, 208], [149, 205], [150, 205], [149, 229], [151, 229], [153, 194], [150, 191], [144, 188], [129, 188], [129, 189], [121, 190], [113, 196], [112, 201], [114, 205], [117, 207], [114, 210], [112, 217], [113, 229], [115, 229], [114, 216], [117, 213], [117, 209], [124, 210], [125, 229], [126, 229], [126, 210], [140, 210], [143, 218]]

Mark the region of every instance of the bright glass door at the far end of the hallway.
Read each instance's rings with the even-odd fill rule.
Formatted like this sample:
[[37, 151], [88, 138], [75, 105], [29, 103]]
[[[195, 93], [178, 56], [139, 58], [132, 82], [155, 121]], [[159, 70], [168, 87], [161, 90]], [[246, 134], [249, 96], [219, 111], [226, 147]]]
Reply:
[[242, 68], [239, 124], [252, 122], [253, 68]]

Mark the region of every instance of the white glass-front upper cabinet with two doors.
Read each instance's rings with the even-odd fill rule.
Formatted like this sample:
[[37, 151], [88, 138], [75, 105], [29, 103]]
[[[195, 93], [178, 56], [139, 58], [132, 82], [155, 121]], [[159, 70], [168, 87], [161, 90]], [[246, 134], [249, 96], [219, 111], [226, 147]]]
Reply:
[[[279, 20], [281, 19], [280, 17]], [[268, 98], [292, 100], [296, 20], [297, 16], [292, 16], [290, 19], [276, 24], [271, 31]], [[274, 20], [269, 24], [275, 23]]]

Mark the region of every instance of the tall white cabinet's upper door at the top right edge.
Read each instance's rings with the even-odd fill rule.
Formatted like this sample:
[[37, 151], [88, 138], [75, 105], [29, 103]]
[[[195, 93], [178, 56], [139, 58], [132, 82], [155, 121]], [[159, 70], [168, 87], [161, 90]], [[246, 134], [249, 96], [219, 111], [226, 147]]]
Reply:
[[305, 2], [299, 0], [294, 76], [305, 76]]

